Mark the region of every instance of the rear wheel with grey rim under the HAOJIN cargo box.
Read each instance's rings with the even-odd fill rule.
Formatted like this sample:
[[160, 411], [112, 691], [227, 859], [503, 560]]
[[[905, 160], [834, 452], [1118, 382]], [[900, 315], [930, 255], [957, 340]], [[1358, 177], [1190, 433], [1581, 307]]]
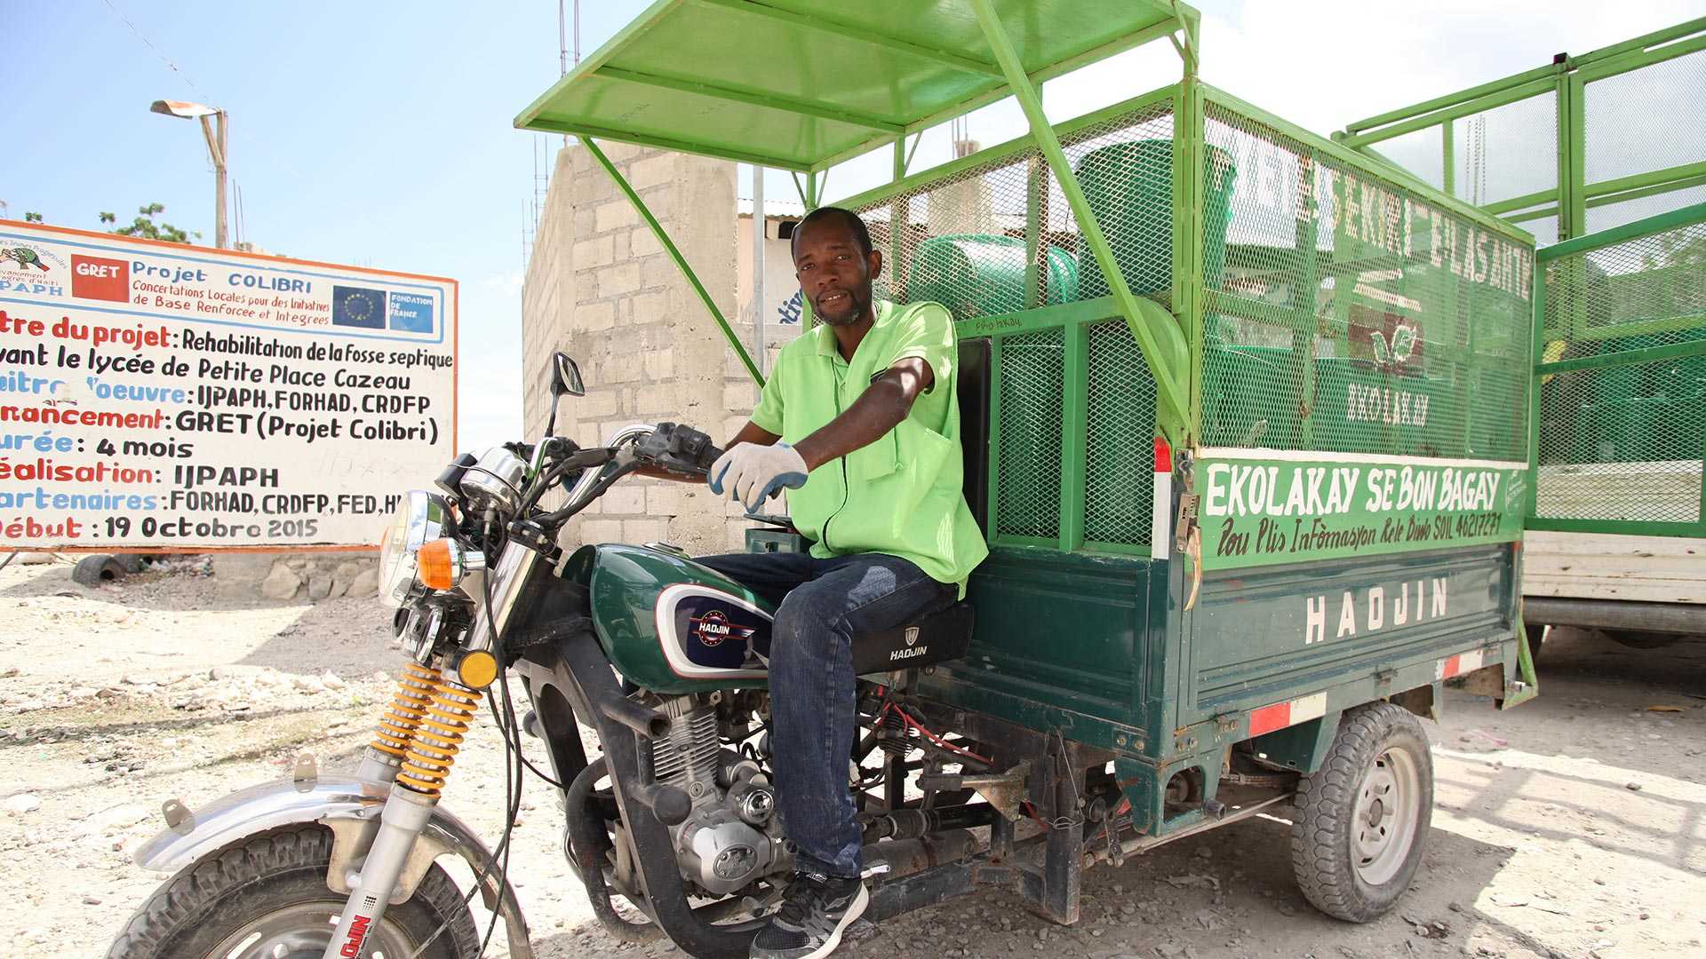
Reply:
[[1297, 785], [1291, 869], [1329, 916], [1387, 913], [1421, 865], [1433, 821], [1433, 756], [1416, 717], [1392, 703], [1358, 706], [1320, 770]]

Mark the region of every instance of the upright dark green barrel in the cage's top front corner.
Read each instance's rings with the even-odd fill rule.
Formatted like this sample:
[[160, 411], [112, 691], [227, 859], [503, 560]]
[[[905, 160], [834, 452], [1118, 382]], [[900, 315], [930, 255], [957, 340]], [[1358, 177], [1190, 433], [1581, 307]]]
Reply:
[[[1203, 154], [1203, 275], [1220, 288], [1227, 266], [1227, 225], [1232, 222], [1232, 155], [1218, 147]], [[1172, 288], [1172, 140], [1134, 140], [1092, 150], [1078, 162], [1078, 186], [1090, 203], [1114, 263], [1133, 294]], [[1088, 247], [1078, 263], [1085, 299], [1105, 297], [1107, 278]]]

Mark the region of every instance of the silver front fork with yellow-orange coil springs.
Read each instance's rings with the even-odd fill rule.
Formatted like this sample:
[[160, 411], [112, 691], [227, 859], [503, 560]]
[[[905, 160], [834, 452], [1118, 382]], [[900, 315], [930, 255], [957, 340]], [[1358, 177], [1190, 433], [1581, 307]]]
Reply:
[[350, 901], [322, 959], [358, 959], [367, 935], [391, 904], [391, 894], [415, 841], [432, 819], [444, 782], [456, 763], [479, 693], [454, 674], [409, 664], [379, 720], [379, 730], [362, 761], [363, 773], [392, 778], [391, 797], [379, 816], [379, 833], [358, 872], [343, 877]]

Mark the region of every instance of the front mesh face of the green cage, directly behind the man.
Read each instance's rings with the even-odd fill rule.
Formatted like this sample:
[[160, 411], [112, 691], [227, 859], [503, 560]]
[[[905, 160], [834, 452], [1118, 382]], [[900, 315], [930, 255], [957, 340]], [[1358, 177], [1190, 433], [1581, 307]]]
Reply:
[[[1153, 99], [1065, 128], [1059, 138], [1126, 283], [1170, 307], [1172, 96]], [[877, 295], [940, 302], [962, 328], [1109, 297], [1066, 195], [1036, 148], [1000, 152], [853, 208], [885, 256]], [[1155, 379], [1124, 321], [1109, 319], [1116, 316], [1107, 305], [1037, 321], [1049, 324], [1044, 329], [991, 334], [995, 539], [1148, 549]], [[1080, 353], [1082, 372], [1070, 370], [1068, 355]], [[1068, 433], [1070, 410], [1082, 416], [1082, 437]]]

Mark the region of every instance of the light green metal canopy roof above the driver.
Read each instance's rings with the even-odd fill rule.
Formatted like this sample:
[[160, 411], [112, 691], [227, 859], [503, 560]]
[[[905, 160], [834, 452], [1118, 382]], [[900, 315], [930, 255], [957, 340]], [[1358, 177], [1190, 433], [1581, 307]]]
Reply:
[[[1198, 19], [1169, 0], [995, 10], [1032, 82]], [[515, 126], [814, 171], [1007, 94], [966, 0], [659, 0]]]

